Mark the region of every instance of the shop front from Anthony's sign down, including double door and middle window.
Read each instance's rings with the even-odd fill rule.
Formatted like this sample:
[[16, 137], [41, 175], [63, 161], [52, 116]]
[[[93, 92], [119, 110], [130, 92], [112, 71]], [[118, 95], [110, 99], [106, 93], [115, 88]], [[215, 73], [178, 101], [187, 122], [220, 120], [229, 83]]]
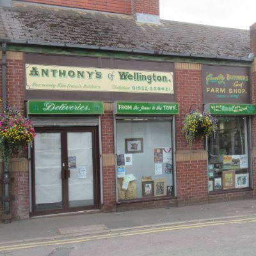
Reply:
[[25, 54], [31, 215], [175, 195], [173, 63]]

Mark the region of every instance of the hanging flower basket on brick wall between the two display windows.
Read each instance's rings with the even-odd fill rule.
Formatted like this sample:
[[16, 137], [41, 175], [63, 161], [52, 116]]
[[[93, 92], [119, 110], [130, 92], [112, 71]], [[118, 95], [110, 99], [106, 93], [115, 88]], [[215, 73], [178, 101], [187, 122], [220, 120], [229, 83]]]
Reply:
[[215, 136], [217, 130], [216, 118], [209, 113], [201, 113], [199, 110], [193, 110], [187, 114], [182, 125], [182, 134], [184, 134], [189, 145], [205, 136]]

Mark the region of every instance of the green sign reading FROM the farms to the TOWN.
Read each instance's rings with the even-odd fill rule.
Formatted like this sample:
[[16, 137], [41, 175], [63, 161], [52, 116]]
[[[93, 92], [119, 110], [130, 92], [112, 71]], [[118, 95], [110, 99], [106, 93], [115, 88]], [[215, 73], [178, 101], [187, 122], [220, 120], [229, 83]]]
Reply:
[[179, 105], [177, 103], [157, 102], [116, 102], [116, 113], [174, 115], [179, 113]]

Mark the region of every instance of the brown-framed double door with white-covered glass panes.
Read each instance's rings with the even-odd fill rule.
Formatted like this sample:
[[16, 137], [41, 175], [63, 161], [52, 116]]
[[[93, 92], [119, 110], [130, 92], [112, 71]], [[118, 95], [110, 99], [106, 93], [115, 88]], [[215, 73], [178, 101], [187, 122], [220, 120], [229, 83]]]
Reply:
[[36, 129], [33, 214], [99, 208], [97, 128]]

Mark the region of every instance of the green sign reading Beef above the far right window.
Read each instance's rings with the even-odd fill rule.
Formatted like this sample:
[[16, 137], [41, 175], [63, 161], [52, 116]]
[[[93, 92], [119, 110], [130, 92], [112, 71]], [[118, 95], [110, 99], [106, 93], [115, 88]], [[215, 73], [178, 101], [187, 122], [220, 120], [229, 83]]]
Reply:
[[255, 115], [255, 105], [251, 104], [209, 104], [212, 115]]

